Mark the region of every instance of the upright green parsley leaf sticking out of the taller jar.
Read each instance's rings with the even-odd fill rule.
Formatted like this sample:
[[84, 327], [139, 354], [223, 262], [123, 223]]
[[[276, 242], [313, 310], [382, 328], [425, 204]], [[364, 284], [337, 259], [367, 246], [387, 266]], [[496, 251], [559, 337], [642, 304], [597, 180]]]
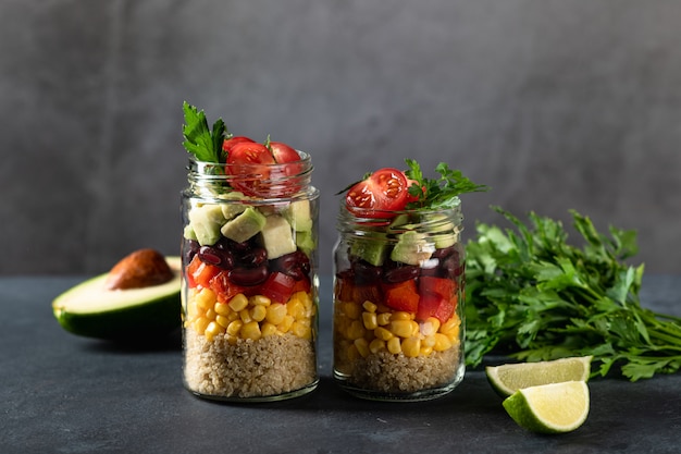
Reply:
[[227, 128], [222, 119], [213, 123], [211, 132], [202, 110], [199, 111], [196, 107], [189, 106], [187, 101], [182, 108], [185, 114], [185, 124], [182, 127], [185, 140], [182, 145], [199, 161], [224, 163], [222, 144]]

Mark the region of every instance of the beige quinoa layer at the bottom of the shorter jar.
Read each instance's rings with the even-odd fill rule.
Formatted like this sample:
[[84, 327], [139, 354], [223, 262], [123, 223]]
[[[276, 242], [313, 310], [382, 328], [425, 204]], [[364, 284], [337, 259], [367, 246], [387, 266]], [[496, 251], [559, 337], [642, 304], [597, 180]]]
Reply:
[[460, 360], [457, 346], [416, 358], [383, 351], [355, 360], [351, 373], [344, 377], [348, 384], [364, 390], [412, 393], [450, 383]]

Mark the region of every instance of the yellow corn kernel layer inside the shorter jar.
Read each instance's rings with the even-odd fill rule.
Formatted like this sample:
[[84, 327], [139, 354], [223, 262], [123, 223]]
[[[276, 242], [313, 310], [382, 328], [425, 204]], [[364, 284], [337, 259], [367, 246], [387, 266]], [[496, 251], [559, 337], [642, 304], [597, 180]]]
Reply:
[[455, 314], [444, 323], [435, 317], [417, 322], [414, 315], [392, 311], [372, 302], [335, 303], [334, 331], [336, 351], [347, 359], [367, 357], [386, 351], [407, 357], [429, 356], [458, 347], [461, 320]]

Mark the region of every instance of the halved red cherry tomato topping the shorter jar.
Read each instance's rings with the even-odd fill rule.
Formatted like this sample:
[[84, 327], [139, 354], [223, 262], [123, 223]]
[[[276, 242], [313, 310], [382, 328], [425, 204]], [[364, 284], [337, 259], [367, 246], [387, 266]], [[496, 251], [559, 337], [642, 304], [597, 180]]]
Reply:
[[345, 204], [350, 212], [367, 218], [389, 218], [381, 211], [401, 210], [407, 205], [407, 177], [393, 168], [380, 169], [350, 187]]

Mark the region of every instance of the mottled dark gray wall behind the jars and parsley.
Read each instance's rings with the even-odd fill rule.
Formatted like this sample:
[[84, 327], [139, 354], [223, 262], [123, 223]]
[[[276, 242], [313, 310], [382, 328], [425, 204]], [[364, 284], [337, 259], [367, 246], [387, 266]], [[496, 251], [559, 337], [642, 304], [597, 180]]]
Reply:
[[176, 254], [182, 101], [313, 155], [322, 272], [337, 197], [418, 157], [465, 196], [636, 229], [681, 273], [681, 2], [3, 0], [0, 273], [94, 273]]

